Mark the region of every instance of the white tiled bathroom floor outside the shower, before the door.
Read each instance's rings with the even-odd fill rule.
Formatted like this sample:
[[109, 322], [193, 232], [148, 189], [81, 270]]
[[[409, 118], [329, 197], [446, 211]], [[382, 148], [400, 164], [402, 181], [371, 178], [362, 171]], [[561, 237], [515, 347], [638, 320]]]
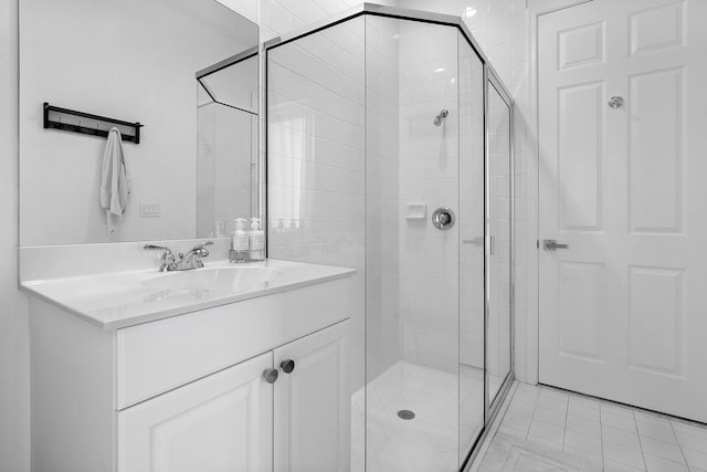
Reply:
[[526, 384], [504, 408], [474, 471], [707, 471], [697, 423]]

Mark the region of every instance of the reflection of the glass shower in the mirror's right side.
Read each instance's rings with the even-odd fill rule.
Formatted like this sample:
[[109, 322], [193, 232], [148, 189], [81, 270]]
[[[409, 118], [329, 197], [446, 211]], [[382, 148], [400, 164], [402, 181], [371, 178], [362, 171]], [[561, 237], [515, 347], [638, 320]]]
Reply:
[[197, 73], [198, 238], [257, 214], [257, 49]]

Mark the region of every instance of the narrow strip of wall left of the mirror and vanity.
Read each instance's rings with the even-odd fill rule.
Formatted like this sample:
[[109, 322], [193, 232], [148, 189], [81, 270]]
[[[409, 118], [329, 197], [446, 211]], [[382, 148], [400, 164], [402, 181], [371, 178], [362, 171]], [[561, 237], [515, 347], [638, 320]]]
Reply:
[[28, 301], [18, 286], [18, 13], [0, 0], [0, 471], [30, 470]]

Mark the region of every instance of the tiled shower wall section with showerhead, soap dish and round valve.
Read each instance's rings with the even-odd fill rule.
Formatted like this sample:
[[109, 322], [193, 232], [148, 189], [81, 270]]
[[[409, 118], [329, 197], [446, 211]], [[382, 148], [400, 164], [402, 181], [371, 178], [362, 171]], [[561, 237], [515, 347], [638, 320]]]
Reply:
[[[440, 207], [458, 211], [457, 30], [400, 22], [400, 304], [402, 358], [458, 369], [458, 224], [440, 231]], [[433, 120], [442, 109], [449, 117]], [[408, 206], [426, 204], [424, 219]]]

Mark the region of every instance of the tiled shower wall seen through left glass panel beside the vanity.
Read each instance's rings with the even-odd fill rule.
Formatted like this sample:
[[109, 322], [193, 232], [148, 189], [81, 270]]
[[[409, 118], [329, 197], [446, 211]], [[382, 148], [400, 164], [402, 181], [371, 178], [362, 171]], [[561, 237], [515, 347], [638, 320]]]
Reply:
[[268, 249], [275, 259], [354, 268], [352, 387], [363, 384], [365, 19], [268, 53]]

